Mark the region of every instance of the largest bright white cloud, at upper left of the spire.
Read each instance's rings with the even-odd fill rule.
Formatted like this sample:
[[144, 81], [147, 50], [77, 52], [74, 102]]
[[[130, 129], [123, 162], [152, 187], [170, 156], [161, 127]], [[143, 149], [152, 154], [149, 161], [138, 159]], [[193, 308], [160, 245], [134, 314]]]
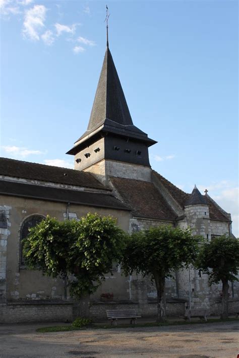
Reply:
[[23, 35], [25, 38], [37, 41], [40, 39], [39, 31], [44, 27], [46, 7], [35, 5], [25, 12]]

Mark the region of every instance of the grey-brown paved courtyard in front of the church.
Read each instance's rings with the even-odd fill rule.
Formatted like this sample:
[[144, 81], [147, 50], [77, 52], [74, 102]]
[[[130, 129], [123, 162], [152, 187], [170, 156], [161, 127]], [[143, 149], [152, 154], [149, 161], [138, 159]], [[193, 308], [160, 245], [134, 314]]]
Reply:
[[36, 328], [46, 325], [0, 325], [0, 357], [236, 358], [239, 352], [236, 321], [36, 333]]

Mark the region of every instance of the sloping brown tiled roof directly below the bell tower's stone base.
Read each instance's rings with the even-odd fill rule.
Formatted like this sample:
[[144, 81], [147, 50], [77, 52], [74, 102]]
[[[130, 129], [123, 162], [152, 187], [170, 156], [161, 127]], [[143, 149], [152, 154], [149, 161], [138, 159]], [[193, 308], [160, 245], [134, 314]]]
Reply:
[[153, 183], [116, 177], [110, 177], [110, 181], [132, 208], [134, 216], [166, 221], [176, 219], [176, 214]]

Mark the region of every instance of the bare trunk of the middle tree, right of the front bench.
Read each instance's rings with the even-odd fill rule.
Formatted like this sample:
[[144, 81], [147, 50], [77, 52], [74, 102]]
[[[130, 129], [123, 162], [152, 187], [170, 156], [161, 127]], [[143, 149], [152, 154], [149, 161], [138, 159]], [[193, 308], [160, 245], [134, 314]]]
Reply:
[[165, 276], [154, 274], [154, 280], [157, 290], [157, 319], [156, 322], [166, 321], [166, 297], [165, 297]]

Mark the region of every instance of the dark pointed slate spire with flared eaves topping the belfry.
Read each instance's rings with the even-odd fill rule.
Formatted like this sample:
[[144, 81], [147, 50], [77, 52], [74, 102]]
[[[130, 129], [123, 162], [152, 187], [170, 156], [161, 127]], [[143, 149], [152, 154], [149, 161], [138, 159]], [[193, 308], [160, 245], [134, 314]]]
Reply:
[[90, 138], [93, 140], [93, 136], [103, 135], [102, 132], [138, 139], [141, 142], [143, 141], [147, 147], [156, 143], [155, 140], [148, 138], [145, 132], [133, 124], [121, 82], [109, 50], [107, 26], [106, 51], [88, 127], [86, 132], [75, 142], [75, 146], [67, 154], [75, 155], [83, 147], [83, 142], [86, 144], [86, 141], [88, 142]]

